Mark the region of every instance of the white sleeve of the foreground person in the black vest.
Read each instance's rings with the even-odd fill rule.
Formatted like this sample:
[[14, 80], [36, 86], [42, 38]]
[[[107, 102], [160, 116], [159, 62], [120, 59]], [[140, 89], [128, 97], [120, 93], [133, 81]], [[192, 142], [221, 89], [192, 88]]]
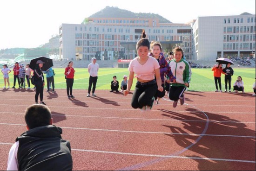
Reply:
[[7, 171], [18, 171], [18, 148], [19, 148], [19, 141], [15, 142], [10, 149], [8, 162], [7, 162]]

